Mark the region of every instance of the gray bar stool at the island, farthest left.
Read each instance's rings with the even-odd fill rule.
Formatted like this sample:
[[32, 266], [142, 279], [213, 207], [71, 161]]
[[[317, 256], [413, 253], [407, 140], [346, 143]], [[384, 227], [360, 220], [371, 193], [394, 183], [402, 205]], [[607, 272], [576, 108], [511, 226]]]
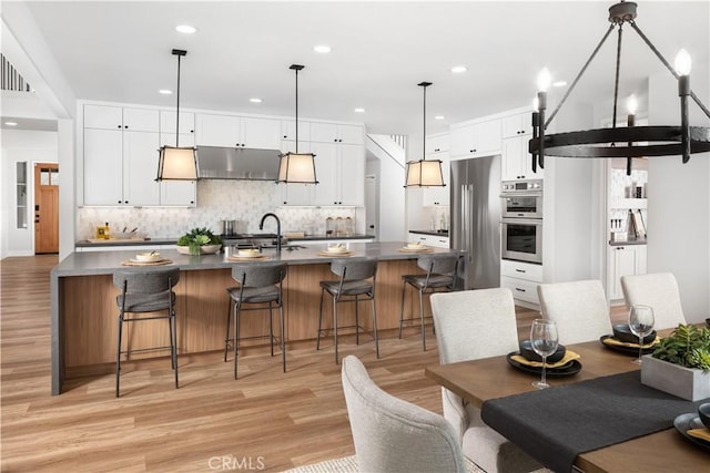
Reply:
[[[164, 350], [170, 348], [170, 360], [175, 372], [175, 389], [178, 389], [178, 336], [175, 330], [175, 292], [172, 288], [180, 280], [180, 268], [170, 269], [125, 269], [113, 274], [113, 285], [121, 289], [115, 301], [119, 307], [118, 341], [115, 349], [115, 397], [119, 397], [121, 381], [121, 354], [149, 350]], [[165, 311], [164, 315], [134, 316], [129, 313], [148, 313]], [[124, 322], [168, 319], [170, 330], [170, 346], [131, 350], [121, 350]]]

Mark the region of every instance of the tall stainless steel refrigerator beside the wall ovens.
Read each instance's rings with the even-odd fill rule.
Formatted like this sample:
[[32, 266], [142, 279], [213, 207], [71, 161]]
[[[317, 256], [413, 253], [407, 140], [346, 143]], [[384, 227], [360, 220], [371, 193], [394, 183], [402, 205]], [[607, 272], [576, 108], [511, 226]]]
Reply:
[[452, 248], [468, 251], [465, 289], [500, 287], [500, 156], [452, 161]]

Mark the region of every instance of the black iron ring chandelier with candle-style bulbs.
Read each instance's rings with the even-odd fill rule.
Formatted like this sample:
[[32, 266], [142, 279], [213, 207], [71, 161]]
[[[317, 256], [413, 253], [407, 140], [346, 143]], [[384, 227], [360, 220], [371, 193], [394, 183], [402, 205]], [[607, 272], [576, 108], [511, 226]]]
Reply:
[[[549, 73], [544, 70], [538, 78], [537, 112], [532, 113], [532, 138], [528, 150], [532, 155], [532, 171], [537, 166], [545, 167], [545, 156], [561, 157], [626, 157], [627, 174], [631, 174], [631, 158], [641, 156], [681, 155], [687, 163], [693, 153], [710, 151], [710, 128], [707, 126], [690, 126], [688, 123], [688, 97], [690, 96], [710, 119], [710, 111], [690, 90], [690, 55], [681, 50], [676, 58], [673, 69], [656, 49], [651, 41], [636, 24], [635, 2], [621, 1], [609, 8], [609, 25], [604, 38], [594, 50], [575, 81], [571, 83], [562, 100], [550, 116], [545, 119], [547, 109], [547, 86]], [[629, 25], [641, 37], [656, 56], [678, 80], [678, 95], [680, 96], [680, 125], [670, 126], [635, 126], [632, 115], [626, 127], [617, 127], [617, 101], [619, 95], [619, 70], [621, 65], [621, 37], [623, 23]], [[613, 114], [610, 128], [586, 130], [581, 132], [545, 134], [545, 130], [565, 104], [565, 101], [577, 85], [577, 82], [591, 63], [595, 55], [607, 40], [611, 31], [618, 27], [616, 78], [613, 85]], [[621, 145], [619, 145], [621, 144]]]

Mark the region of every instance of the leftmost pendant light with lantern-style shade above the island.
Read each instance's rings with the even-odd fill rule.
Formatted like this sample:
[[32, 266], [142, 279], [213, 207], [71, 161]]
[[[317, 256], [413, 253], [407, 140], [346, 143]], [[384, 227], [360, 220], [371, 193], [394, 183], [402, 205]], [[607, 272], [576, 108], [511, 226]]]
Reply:
[[194, 147], [180, 147], [180, 58], [187, 51], [174, 49], [178, 56], [178, 106], [175, 107], [175, 147], [162, 146], [158, 160], [155, 181], [196, 181], [197, 154]]

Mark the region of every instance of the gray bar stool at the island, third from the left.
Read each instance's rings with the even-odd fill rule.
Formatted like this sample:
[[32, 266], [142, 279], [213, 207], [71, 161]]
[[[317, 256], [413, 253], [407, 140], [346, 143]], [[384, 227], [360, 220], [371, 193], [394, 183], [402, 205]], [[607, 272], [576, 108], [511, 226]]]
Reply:
[[[333, 330], [335, 345], [335, 364], [339, 363], [337, 357], [337, 305], [339, 302], [355, 302], [355, 325], [339, 327], [355, 328], [355, 342], [359, 345], [359, 331], [365, 328], [359, 326], [359, 302], [371, 300], [373, 306], [373, 336], [375, 350], [379, 358], [379, 341], [377, 340], [377, 311], [375, 309], [375, 279], [377, 275], [377, 260], [375, 258], [334, 259], [331, 263], [331, 271], [338, 276], [337, 280], [321, 281], [321, 308], [318, 311], [318, 336], [316, 350], [321, 349], [321, 333]], [[333, 328], [323, 329], [323, 296], [329, 294], [333, 298]]]

